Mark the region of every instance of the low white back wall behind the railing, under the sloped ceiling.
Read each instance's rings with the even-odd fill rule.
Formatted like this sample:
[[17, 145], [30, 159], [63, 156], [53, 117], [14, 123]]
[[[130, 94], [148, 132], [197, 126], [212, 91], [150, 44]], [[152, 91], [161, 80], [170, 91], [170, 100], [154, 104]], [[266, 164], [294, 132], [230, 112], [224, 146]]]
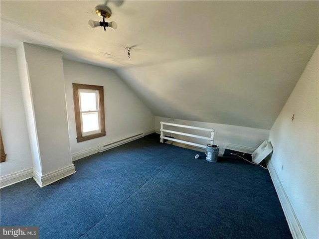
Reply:
[[[168, 121], [168, 118], [155, 117], [155, 128], [157, 131], [160, 130], [160, 121]], [[260, 128], [250, 128], [244, 126], [220, 124], [220, 123], [209, 123], [209, 122], [199, 122], [190, 120], [174, 119], [174, 123], [186, 124], [191, 126], [203, 127], [203, 128], [213, 128], [215, 131], [214, 143], [217, 144], [219, 149], [219, 154], [223, 154], [227, 143], [240, 145], [244, 147], [256, 149], [264, 140], [268, 139], [269, 130]], [[197, 131], [197, 130], [187, 130], [184, 128], [179, 128], [178, 131], [187, 133], [200, 133], [202, 136], [210, 137], [209, 132]], [[186, 138], [182, 135], [175, 135], [175, 138], [189, 140], [195, 143], [207, 144], [207, 140], [197, 139], [197, 138]]]

